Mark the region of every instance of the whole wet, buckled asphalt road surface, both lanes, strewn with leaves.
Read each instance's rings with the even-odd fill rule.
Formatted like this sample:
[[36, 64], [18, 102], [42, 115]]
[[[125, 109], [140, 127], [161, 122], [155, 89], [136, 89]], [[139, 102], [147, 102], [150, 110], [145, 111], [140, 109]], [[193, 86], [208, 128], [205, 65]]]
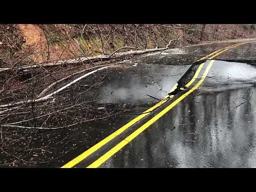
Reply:
[[[51, 131], [49, 137], [48, 133], [43, 132], [45, 137], [37, 137], [38, 141], [53, 143], [58, 140], [58, 145], [49, 148], [47, 163], [39, 162], [35, 166], [61, 167], [70, 162], [154, 106], [179, 79], [189, 81], [199, 66], [193, 65], [193, 70], [189, 70], [193, 62], [236, 43], [189, 46], [141, 55], [126, 63], [123, 68], [108, 68], [61, 91], [57, 94], [58, 98], [70, 94], [72, 99], [75, 93], [79, 95], [79, 102], [97, 95], [97, 105], [104, 107], [106, 113], [113, 109], [113, 105], [129, 110], [108, 119], [83, 123], [77, 129]], [[256, 60], [255, 49], [256, 43], [250, 42], [214, 58], [218, 60], [214, 61], [198, 89], [99, 167], [256, 167], [256, 65], [252, 62]], [[203, 75], [209, 62], [206, 61], [198, 78]], [[84, 94], [94, 78], [105, 78], [106, 81]], [[191, 87], [197, 82], [198, 79]], [[154, 113], [141, 119], [74, 167], [87, 167], [93, 163], [186, 91], [177, 93]], [[94, 110], [102, 111], [100, 108]], [[76, 113], [69, 115], [75, 116]], [[87, 115], [83, 111], [81, 113]], [[63, 124], [71, 121], [68, 115], [61, 120]], [[35, 143], [39, 146], [38, 141]]]

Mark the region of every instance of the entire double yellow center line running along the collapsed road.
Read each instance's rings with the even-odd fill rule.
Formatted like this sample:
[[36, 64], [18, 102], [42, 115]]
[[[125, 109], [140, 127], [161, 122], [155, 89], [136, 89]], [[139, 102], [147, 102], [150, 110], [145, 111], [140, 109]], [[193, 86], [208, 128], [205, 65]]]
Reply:
[[[242, 45], [244, 43], [238, 43], [235, 45], [231, 45], [228, 47], [225, 47], [224, 49], [220, 49], [217, 50], [209, 55], [206, 55], [205, 57], [199, 59], [199, 60], [203, 60], [203, 59], [212, 59], [214, 57], [216, 57], [217, 55], [232, 49], [236, 46]], [[103, 162], [107, 161], [108, 158], [110, 158], [112, 155], [114, 155], [118, 150], [120, 150], [121, 148], [123, 148], [125, 145], [127, 145], [127, 143], [129, 143], [131, 140], [133, 140], [135, 137], [137, 137], [142, 131], [144, 131], [145, 129], [147, 129], [147, 127], [149, 127], [151, 124], [153, 124], [155, 121], [157, 121], [157, 119], [159, 119], [160, 117], [162, 117], [165, 113], [167, 113], [167, 111], [169, 111], [171, 108], [173, 108], [175, 105], [177, 105], [178, 102], [180, 102], [181, 100], [183, 100], [188, 94], [190, 94], [191, 92], [193, 92], [195, 89], [197, 89], [197, 87], [204, 81], [204, 78], [206, 77], [207, 73], [209, 72], [211, 66], [212, 66], [213, 61], [210, 61], [209, 65], [207, 66], [202, 78], [198, 81], [198, 83], [192, 88], [190, 89], [188, 92], [186, 92], [185, 94], [181, 95], [181, 97], [179, 97], [177, 100], [175, 100], [174, 102], [172, 102], [169, 106], [167, 106], [165, 109], [163, 109], [160, 113], [158, 113], [156, 116], [154, 116], [153, 118], [151, 118], [148, 122], [146, 122], [145, 124], [143, 124], [141, 127], [139, 127], [139, 129], [135, 130], [133, 133], [131, 133], [127, 138], [125, 138], [123, 141], [119, 142], [115, 147], [111, 148], [109, 151], [107, 151], [107, 153], [105, 153], [104, 155], [102, 155], [100, 158], [98, 158], [95, 162], [93, 162], [91, 165], [89, 165], [88, 167], [98, 167], [100, 166]], [[193, 76], [193, 78], [190, 80], [190, 82], [186, 85], [186, 87], [190, 86], [195, 79], [197, 78], [197, 76], [199, 75], [201, 69], [203, 68], [204, 63], [202, 63], [195, 75]], [[175, 84], [173, 89], [171, 90], [174, 91], [177, 88], [178, 84]], [[174, 95], [171, 95], [172, 97], [174, 97]], [[125, 124], [124, 126], [122, 126], [120, 129], [118, 129], [117, 131], [115, 131], [114, 133], [110, 134], [108, 137], [106, 137], [105, 139], [101, 140], [100, 142], [98, 142], [96, 145], [94, 145], [93, 147], [87, 149], [84, 153], [82, 153], [81, 155], [77, 156], [76, 158], [74, 158], [73, 160], [71, 160], [70, 162], [68, 162], [67, 164], [63, 165], [62, 168], [70, 168], [75, 166], [76, 164], [78, 164], [79, 162], [83, 161], [86, 157], [88, 157], [89, 155], [91, 155], [92, 153], [94, 153], [95, 151], [97, 151], [99, 148], [101, 148], [102, 146], [106, 145], [109, 141], [113, 140], [114, 138], [116, 138], [119, 134], [121, 134], [122, 132], [124, 132], [127, 128], [129, 128], [130, 126], [132, 126], [133, 124], [137, 123], [140, 119], [142, 119], [143, 117], [147, 116], [150, 114], [151, 111], [153, 111], [154, 109], [156, 109], [157, 107], [163, 105], [163, 103], [165, 103], [167, 101], [167, 98], [170, 97], [170, 95], [166, 95], [166, 97], [164, 98], [163, 101], [158, 102], [155, 106], [149, 108], [148, 110], [144, 111], [141, 115], [139, 115], [138, 117], [132, 119], [132, 121], [130, 121], [129, 123]]]

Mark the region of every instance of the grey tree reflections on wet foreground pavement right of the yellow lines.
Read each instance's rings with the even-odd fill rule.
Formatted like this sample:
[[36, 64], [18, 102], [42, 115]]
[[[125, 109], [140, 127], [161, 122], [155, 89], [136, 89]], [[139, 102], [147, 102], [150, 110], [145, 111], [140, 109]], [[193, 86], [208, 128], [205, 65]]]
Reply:
[[236, 107], [252, 92], [193, 94], [102, 167], [255, 167], [255, 102]]

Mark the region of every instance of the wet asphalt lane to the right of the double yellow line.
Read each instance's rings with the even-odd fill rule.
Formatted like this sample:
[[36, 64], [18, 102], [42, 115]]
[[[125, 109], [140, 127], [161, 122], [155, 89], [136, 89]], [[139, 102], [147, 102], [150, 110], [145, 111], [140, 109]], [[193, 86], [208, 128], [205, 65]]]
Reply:
[[[255, 59], [255, 45], [217, 59]], [[214, 61], [196, 91], [100, 167], [256, 167], [255, 85], [256, 65]]]

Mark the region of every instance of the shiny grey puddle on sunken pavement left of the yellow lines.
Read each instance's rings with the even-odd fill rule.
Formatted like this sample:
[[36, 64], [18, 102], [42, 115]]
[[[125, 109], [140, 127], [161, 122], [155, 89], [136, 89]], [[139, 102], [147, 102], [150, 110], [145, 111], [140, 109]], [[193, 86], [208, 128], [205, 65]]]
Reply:
[[[99, 94], [105, 98], [99, 103], [147, 103], [163, 99], [191, 65], [138, 65], [136, 74], [116, 76], [102, 84]], [[150, 96], [148, 96], [150, 95]]]

